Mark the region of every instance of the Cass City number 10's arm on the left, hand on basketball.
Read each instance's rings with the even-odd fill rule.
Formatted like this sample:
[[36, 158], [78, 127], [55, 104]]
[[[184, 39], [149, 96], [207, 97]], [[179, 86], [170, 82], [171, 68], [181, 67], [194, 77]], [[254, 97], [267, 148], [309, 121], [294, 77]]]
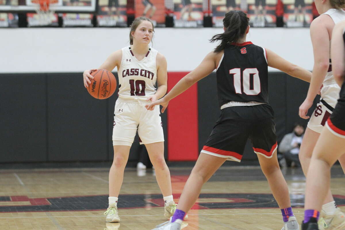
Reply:
[[[122, 60], [122, 50], [117, 50], [114, 53], [110, 54], [107, 60], [98, 68], [106, 69], [112, 71], [116, 66], [119, 68]], [[83, 72], [84, 86], [87, 88], [91, 83], [90, 79], [93, 79], [91, 72], [96, 71], [97, 69], [88, 69]]]

